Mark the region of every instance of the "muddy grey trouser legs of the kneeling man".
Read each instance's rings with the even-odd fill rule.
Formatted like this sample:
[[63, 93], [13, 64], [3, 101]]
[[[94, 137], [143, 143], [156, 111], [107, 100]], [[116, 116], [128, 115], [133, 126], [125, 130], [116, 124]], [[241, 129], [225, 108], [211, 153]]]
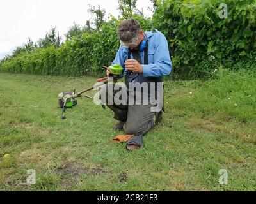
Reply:
[[[121, 86], [118, 90], [113, 90], [113, 85], [104, 85], [102, 89], [100, 89], [100, 99], [102, 103], [107, 105], [114, 112], [114, 118], [116, 120], [125, 122], [124, 131], [127, 135], [144, 135], [147, 133], [155, 125], [156, 116], [159, 113], [152, 112], [151, 108], [154, 105], [144, 105], [143, 103], [141, 103], [141, 105], [130, 105], [128, 104], [127, 98], [122, 99], [121, 97], [119, 99], [122, 103], [116, 105], [114, 98], [117, 92], [118, 96], [122, 96], [122, 92], [129, 96], [129, 91], [122, 89]], [[112, 103], [110, 104], [109, 101]]]

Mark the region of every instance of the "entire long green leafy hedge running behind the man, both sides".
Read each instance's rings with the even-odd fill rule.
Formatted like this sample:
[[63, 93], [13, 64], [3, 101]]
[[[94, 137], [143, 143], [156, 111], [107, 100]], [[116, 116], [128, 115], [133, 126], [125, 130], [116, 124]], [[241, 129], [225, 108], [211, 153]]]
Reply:
[[[157, 1], [159, 2], [159, 1]], [[205, 76], [217, 64], [255, 69], [256, 0], [227, 0], [228, 18], [220, 19], [222, 0], [165, 0], [151, 19], [136, 16], [143, 30], [157, 28], [170, 45], [173, 74]], [[86, 75], [104, 71], [119, 47], [116, 29], [124, 19], [111, 17], [100, 31], [83, 33], [59, 48], [36, 48], [0, 62], [0, 71], [44, 75]]]

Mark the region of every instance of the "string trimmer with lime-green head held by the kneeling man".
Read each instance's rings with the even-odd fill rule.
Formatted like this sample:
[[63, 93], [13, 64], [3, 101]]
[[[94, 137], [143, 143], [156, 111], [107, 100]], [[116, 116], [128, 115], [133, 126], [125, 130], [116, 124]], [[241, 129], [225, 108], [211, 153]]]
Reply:
[[[111, 73], [111, 77], [113, 77], [113, 79], [114, 79], [114, 82], [116, 82], [117, 79], [120, 78], [123, 68], [119, 64], [115, 64], [115, 65], [109, 67], [109, 71]], [[109, 78], [108, 77], [100, 78], [97, 80], [97, 82], [102, 82], [103, 84], [108, 84]], [[88, 87], [87, 89], [84, 89], [84, 91], [78, 92], [77, 94], [76, 94], [75, 90], [71, 91], [71, 92], [61, 92], [58, 96], [59, 106], [60, 106], [60, 108], [62, 108], [61, 119], [66, 119], [65, 112], [66, 112], [67, 108], [72, 108], [77, 105], [76, 98], [83, 97], [82, 94], [84, 94], [85, 92], [91, 91], [94, 88], [100, 87], [100, 85], [102, 85], [102, 84], [99, 84], [96, 86], [92, 85], [91, 87]], [[85, 96], [85, 97], [88, 97], [88, 96]], [[90, 98], [90, 97], [88, 97], [88, 98]]]

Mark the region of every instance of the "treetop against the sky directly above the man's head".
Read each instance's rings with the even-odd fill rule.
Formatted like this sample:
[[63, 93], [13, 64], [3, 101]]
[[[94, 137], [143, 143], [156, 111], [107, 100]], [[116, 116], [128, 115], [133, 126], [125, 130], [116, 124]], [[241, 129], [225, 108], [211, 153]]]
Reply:
[[137, 0], [118, 0], [118, 10], [125, 19], [132, 18], [132, 14], [136, 13], [136, 3]]

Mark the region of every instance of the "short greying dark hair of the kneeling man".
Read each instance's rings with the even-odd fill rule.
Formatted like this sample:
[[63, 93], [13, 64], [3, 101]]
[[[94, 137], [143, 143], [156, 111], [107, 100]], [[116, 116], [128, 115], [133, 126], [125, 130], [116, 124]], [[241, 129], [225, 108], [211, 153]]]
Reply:
[[139, 35], [139, 32], [141, 31], [140, 23], [131, 18], [128, 20], [124, 20], [119, 26], [118, 26], [118, 38], [122, 41], [129, 41], [132, 38]]

